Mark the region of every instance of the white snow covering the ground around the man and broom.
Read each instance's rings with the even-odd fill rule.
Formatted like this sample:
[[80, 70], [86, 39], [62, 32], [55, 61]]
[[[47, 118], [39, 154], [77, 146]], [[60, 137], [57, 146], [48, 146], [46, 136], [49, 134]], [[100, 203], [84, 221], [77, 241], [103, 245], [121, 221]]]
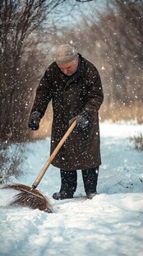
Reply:
[[[53, 213], [10, 208], [15, 191], [0, 190], [0, 255], [77, 256], [142, 255], [143, 157], [129, 138], [143, 132], [134, 123], [100, 124], [102, 165], [99, 195], [85, 197], [81, 171], [75, 198], [53, 200], [58, 168], [49, 166], [39, 191], [53, 203]], [[49, 157], [50, 139], [26, 145], [24, 175], [13, 182], [31, 186]], [[82, 197], [81, 197], [82, 196]]]

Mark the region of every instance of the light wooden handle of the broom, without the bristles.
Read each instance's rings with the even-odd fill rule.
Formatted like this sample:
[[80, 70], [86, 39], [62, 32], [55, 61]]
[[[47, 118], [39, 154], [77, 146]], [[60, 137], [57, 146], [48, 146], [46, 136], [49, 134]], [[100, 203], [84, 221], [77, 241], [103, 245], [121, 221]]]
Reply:
[[71, 134], [71, 131], [75, 128], [76, 123], [77, 123], [76, 120], [72, 122], [72, 124], [71, 124], [70, 128], [67, 130], [66, 134], [62, 137], [62, 140], [60, 140], [57, 147], [53, 150], [53, 153], [51, 154], [51, 156], [49, 157], [47, 162], [44, 164], [44, 167], [41, 169], [39, 175], [35, 179], [35, 182], [33, 183], [32, 188], [36, 188], [39, 185], [41, 179], [44, 177], [44, 173], [46, 173], [46, 171], [47, 171], [49, 164], [51, 164], [51, 162], [53, 161], [56, 154], [58, 154], [59, 149], [61, 149], [63, 143], [67, 140], [67, 137]]

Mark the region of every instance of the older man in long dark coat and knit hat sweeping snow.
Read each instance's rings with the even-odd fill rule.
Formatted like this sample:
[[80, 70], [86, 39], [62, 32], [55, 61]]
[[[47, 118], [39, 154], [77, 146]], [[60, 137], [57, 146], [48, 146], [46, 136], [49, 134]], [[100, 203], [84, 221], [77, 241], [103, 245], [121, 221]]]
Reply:
[[58, 48], [55, 62], [39, 83], [30, 113], [30, 129], [39, 129], [39, 121], [51, 100], [51, 154], [72, 121], [77, 120], [76, 127], [52, 162], [61, 173], [61, 189], [53, 194], [53, 198], [73, 197], [77, 186], [76, 170], [81, 169], [86, 197], [92, 199], [97, 193], [101, 164], [98, 111], [104, 95], [97, 69], [71, 45]]

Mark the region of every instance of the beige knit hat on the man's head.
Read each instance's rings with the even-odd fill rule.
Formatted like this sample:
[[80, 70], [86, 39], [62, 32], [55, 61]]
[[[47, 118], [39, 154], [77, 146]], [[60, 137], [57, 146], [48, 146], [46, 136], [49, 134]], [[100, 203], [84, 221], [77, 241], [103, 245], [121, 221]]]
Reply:
[[61, 45], [55, 55], [57, 64], [66, 64], [78, 57], [76, 49], [71, 45]]

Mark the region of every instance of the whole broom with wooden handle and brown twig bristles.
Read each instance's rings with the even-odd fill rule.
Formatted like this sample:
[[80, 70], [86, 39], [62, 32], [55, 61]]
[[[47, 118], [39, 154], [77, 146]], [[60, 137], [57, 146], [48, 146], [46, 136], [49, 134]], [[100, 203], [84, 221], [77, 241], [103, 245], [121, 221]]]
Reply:
[[36, 187], [39, 185], [41, 179], [44, 177], [44, 173], [47, 171], [48, 166], [52, 163], [56, 154], [58, 154], [59, 149], [61, 149], [67, 137], [71, 134], [71, 131], [76, 126], [76, 120], [72, 122], [71, 126], [67, 130], [66, 134], [62, 137], [62, 140], [59, 141], [57, 147], [53, 150], [53, 153], [44, 164], [44, 167], [41, 169], [39, 175], [35, 179], [32, 187], [26, 186], [24, 184], [12, 184], [6, 185], [2, 188], [12, 188], [14, 190], [20, 191], [15, 197], [14, 201], [10, 203], [10, 206], [25, 206], [30, 207], [31, 209], [39, 209], [40, 211], [46, 211], [52, 213], [52, 205], [48, 200], [48, 197], [42, 195]]

